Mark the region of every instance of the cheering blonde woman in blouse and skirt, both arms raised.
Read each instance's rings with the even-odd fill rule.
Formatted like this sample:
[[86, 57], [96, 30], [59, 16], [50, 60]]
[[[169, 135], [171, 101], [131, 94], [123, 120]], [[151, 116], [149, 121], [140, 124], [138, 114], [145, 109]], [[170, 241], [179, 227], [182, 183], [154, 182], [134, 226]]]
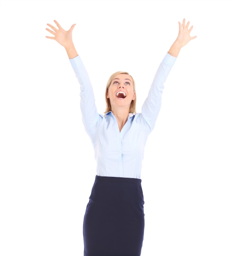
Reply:
[[84, 216], [85, 256], [140, 256], [144, 234], [141, 167], [144, 147], [161, 106], [165, 80], [180, 49], [190, 40], [189, 22], [179, 24], [178, 37], [158, 67], [142, 112], [136, 113], [134, 79], [127, 72], [110, 76], [106, 87], [107, 108], [100, 115], [86, 69], [72, 40], [75, 24], [65, 31], [46, 28], [64, 46], [80, 84], [81, 112], [92, 140], [97, 175]]

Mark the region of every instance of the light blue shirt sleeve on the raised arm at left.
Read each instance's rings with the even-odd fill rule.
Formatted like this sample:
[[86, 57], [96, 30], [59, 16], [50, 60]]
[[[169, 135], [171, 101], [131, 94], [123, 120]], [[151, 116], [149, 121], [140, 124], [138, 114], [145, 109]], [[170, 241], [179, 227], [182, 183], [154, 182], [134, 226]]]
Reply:
[[91, 129], [97, 124], [99, 118], [99, 114], [95, 106], [93, 88], [80, 56], [78, 55], [77, 57], [70, 59], [70, 64], [72, 65], [80, 84], [80, 107], [82, 120], [85, 130], [89, 134]]

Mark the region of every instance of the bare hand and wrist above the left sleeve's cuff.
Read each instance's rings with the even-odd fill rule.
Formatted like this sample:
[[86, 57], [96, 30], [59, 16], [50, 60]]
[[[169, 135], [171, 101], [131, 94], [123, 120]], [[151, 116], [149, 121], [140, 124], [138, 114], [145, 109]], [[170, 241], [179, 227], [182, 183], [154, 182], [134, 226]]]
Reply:
[[78, 54], [72, 40], [72, 31], [76, 24], [73, 24], [70, 27], [70, 29], [66, 31], [61, 27], [61, 25], [56, 20], [54, 20], [54, 22], [57, 25], [57, 28], [51, 24], [47, 24], [47, 25], [53, 30], [46, 28], [46, 30], [54, 36], [46, 36], [46, 38], [56, 40], [57, 43], [62, 45], [66, 49], [66, 52], [70, 59], [77, 57]]

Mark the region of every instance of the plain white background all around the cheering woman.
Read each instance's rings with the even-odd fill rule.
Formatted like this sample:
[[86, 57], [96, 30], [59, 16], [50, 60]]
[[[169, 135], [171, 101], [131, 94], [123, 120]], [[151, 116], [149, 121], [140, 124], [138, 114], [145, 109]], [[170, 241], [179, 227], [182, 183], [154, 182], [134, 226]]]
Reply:
[[100, 113], [109, 76], [136, 81], [137, 111], [176, 39], [191, 35], [165, 84], [145, 148], [142, 256], [233, 256], [231, 1], [0, 1], [0, 255], [81, 256], [96, 165], [64, 29]]

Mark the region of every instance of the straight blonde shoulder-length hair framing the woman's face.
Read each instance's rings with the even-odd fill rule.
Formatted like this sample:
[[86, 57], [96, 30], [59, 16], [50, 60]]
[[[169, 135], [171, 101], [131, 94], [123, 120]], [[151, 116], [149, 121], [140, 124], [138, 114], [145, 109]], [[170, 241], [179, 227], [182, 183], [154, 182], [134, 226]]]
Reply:
[[[105, 91], [106, 110], [105, 110], [104, 113], [107, 113], [107, 112], [109, 112], [109, 111], [112, 111], [110, 99], [107, 98], [107, 95], [108, 95], [108, 88], [109, 88], [110, 84], [112, 83], [112, 79], [114, 79], [114, 77], [117, 76], [117, 75], [119, 75], [119, 74], [126, 74], [126, 75], [129, 75], [129, 76], [132, 78], [132, 76], [131, 76], [128, 72], [121, 72], [121, 71], [115, 72], [114, 74], [112, 74], [112, 75], [110, 76], [110, 78], [108, 79], [108, 83], [107, 83], [106, 91]], [[129, 113], [134, 113], [134, 114], [136, 114], [136, 90], [135, 90], [135, 82], [134, 82], [134, 79], [133, 79], [133, 78], [132, 78], [132, 83], [133, 83], [134, 92], [135, 92], [135, 99], [132, 100], [131, 103], [130, 103], [130, 110], [129, 110]]]

